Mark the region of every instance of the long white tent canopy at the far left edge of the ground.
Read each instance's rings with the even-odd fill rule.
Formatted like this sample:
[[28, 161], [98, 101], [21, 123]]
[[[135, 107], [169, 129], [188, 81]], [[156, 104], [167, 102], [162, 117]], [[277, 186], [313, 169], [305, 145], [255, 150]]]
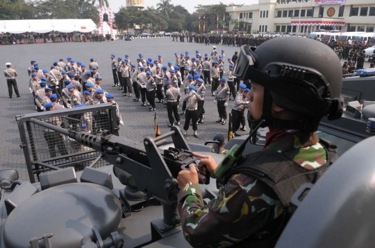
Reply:
[[97, 29], [92, 19], [0, 20], [0, 33], [88, 33]]

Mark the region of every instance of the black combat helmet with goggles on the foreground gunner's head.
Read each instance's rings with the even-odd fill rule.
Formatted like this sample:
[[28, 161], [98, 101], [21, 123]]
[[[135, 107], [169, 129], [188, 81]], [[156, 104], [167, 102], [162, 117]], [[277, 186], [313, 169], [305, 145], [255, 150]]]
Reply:
[[[234, 75], [265, 87], [263, 116], [266, 125], [317, 130], [323, 116], [342, 115], [342, 67], [338, 55], [325, 44], [302, 37], [270, 39], [258, 48], [242, 46]], [[272, 117], [271, 105], [298, 114], [298, 121]]]

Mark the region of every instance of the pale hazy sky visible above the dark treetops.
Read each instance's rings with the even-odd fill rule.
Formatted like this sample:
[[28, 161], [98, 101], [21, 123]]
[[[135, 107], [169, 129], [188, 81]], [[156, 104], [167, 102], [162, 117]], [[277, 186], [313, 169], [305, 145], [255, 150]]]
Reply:
[[[126, 0], [108, 0], [110, 7], [112, 8], [113, 12], [117, 12], [121, 6], [126, 6]], [[144, 0], [144, 7], [151, 7], [154, 6], [156, 8], [156, 4], [159, 3], [160, 0]], [[173, 5], [181, 5], [185, 7], [190, 13], [195, 11], [194, 6], [197, 6], [199, 4], [201, 5], [210, 5], [210, 4], [217, 4], [219, 1], [215, 0], [190, 0], [190, 1], [178, 1], [178, 0], [172, 0], [171, 3]], [[258, 3], [258, 0], [221, 0], [224, 4], [229, 3], [244, 3], [245, 5]]]

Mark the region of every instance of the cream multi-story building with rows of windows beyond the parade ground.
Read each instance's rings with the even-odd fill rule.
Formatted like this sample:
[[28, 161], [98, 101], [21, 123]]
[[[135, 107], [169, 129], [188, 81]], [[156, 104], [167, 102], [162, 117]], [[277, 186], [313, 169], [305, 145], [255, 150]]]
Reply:
[[[226, 12], [246, 33], [374, 32], [375, 28], [375, 0], [259, 0], [250, 6], [226, 7]], [[232, 23], [229, 30], [234, 27]]]

